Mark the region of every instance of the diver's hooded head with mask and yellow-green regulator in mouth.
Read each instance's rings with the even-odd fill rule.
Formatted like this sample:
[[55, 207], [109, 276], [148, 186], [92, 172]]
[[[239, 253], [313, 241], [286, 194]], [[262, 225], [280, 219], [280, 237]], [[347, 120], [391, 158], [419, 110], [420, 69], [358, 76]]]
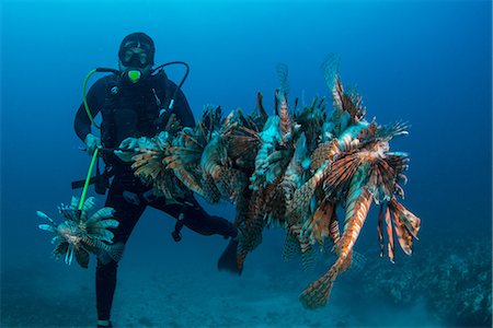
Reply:
[[122, 77], [131, 84], [145, 80], [154, 65], [154, 42], [147, 34], [137, 32], [127, 35], [119, 45], [118, 67]]

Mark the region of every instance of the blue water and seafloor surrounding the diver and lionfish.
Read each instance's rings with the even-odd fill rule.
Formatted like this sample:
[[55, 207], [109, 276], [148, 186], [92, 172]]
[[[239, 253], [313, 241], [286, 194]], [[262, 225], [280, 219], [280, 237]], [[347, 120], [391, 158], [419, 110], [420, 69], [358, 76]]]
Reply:
[[[491, 1], [0, 5], [0, 326], [95, 326], [95, 258], [89, 269], [50, 258], [51, 236], [35, 212], [56, 216], [59, 203], [80, 195], [70, 183], [90, 162], [73, 131], [83, 79], [116, 68], [121, 40], [137, 31], [153, 38], [157, 65], [191, 66], [183, 91], [196, 117], [206, 104], [249, 113], [259, 91], [272, 114], [277, 63], [289, 68], [291, 102], [330, 97], [320, 65], [339, 54], [341, 80], [363, 95], [368, 119], [412, 125], [391, 149], [410, 153], [403, 203], [422, 229], [412, 257], [395, 250], [391, 265], [378, 255], [374, 209], [355, 246], [359, 260], [325, 307], [307, 311], [299, 294], [334, 258], [310, 272], [286, 263], [283, 232], [272, 229], [233, 277], [216, 270], [227, 241], [184, 230], [174, 243], [174, 220], [148, 209], [119, 266], [117, 327], [491, 326]], [[179, 82], [183, 70], [167, 73]], [[230, 204], [202, 202], [233, 219]]]

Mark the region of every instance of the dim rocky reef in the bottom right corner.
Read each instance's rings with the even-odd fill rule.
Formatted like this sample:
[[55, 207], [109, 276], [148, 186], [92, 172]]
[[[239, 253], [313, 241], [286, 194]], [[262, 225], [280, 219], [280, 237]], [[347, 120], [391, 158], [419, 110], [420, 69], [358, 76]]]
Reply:
[[422, 298], [447, 326], [491, 327], [491, 238], [444, 238], [420, 246], [412, 258], [398, 258], [394, 265], [368, 260], [365, 294], [401, 305]]

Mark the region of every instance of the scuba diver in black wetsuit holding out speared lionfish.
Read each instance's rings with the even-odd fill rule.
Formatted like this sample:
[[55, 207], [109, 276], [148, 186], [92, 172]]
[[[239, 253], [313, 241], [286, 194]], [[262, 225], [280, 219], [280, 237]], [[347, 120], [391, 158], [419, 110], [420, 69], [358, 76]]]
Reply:
[[[240, 273], [236, 266], [238, 232], [233, 224], [223, 218], [209, 215], [192, 191], [179, 202], [154, 195], [152, 187], [142, 184], [134, 175], [129, 163], [138, 138], [158, 134], [171, 115], [175, 115], [183, 127], [195, 125], [186, 97], [180, 89], [186, 74], [182, 83], [176, 85], [160, 69], [165, 65], [152, 69], [154, 43], [145, 33], [127, 35], [121, 44], [118, 59], [118, 71], [100, 70], [113, 74], [99, 79], [91, 86], [74, 119], [77, 136], [85, 143], [89, 154], [92, 155], [95, 149], [103, 153], [106, 169], [102, 177], [105, 178], [96, 181], [96, 192], [105, 194], [106, 187], [110, 188], [105, 207], [113, 208], [115, 219], [119, 221], [119, 225], [112, 230], [113, 242], [125, 244], [145, 209], [150, 206], [176, 219], [172, 233], [176, 242], [181, 239], [180, 230], [183, 225], [202, 235], [218, 234], [231, 238], [218, 267]], [[91, 131], [91, 125], [95, 125], [93, 117], [98, 113], [102, 115], [101, 138]], [[111, 185], [110, 176], [113, 176]], [[98, 259], [98, 327], [112, 327], [110, 315], [117, 267], [114, 260]]]

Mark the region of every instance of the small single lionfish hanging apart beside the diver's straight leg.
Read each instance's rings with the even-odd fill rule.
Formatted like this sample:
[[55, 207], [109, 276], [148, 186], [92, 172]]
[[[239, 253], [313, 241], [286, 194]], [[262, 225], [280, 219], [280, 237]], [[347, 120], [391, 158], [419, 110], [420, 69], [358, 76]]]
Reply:
[[88, 268], [89, 254], [95, 254], [103, 262], [112, 259], [118, 261], [122, 257], [123, 243], [112, 244], [113, 233], [108, 229], [118, 226], [118, 221], [113, 219], [112, 208], [102, 208], [93, 211], [95, 201], [88, 198], [82, 209], [78, 210], [79, 199], [72, 197], [70, 206], [61, 204], [58, 211], [65, 221], [56, 223], [51, 218], [37, 211], [37, 215], [48, 221], [48, 224], [39, 224], [41, 230], [55, 234], [51, 244], [55, 244], [53, 255], [56, 259], [64, 258], [70, 265], [76, 257], [82, 268]]

